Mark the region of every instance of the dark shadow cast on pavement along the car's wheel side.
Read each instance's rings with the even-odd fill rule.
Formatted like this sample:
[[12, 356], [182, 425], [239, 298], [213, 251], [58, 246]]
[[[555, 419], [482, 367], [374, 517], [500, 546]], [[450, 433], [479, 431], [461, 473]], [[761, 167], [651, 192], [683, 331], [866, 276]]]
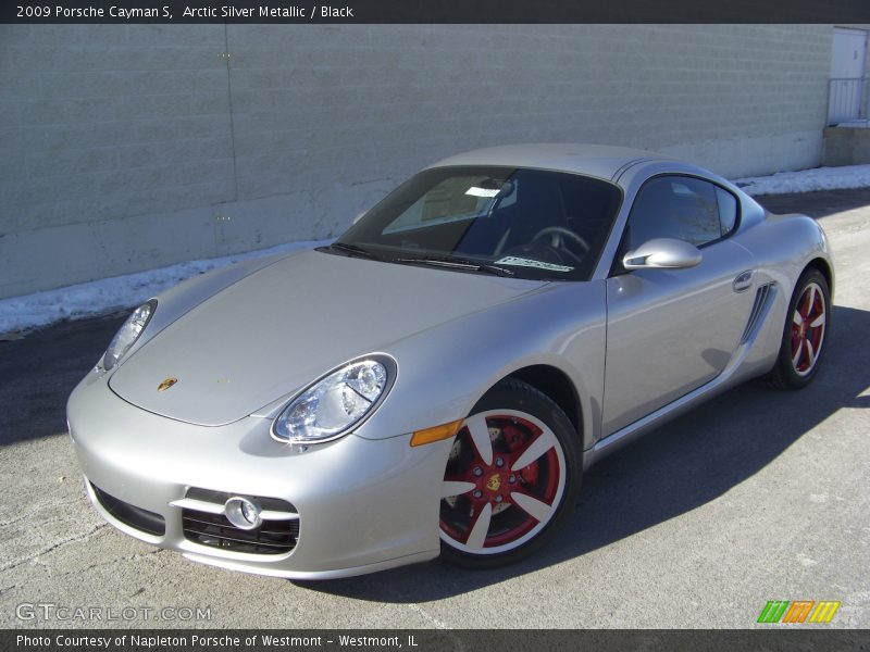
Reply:
[[[763, 469], [844, 408], [870, 408], [870, 312], [834, 306], [831, 346], [812, 385], [788, 392], [749, 383], [605, 459], [586, 473], [581, 501], [559, 536], [532, 559], [490, 570], [435, 561], [310, 590], [358, 600], [421, 603], [533, 573], [695, 510]], [[389, 505], [384, 505], [389, 509]]]

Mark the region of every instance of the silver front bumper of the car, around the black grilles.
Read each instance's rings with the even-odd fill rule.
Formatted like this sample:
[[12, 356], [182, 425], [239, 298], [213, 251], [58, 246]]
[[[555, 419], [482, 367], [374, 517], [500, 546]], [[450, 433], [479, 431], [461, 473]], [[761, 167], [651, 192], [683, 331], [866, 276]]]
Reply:
[[[449, 440], [411, 448], [410, 435], [372, 440], [351, 434], [301, 452], [269, 436], [270, 419], [251, 416], [220, 427], [177, 422], [127, 403], [97, 373], [73, 391], [67, 421], [98, 512], [117, 529], [190, 560], [326, 579], [438, 555]], [[198, 542], [185, 532], [179, 504], [202, 490], [290, 503], [298, 514], [295, 546], [259, 554]], [[162, 518], [162, 534], [119, 517], [98, 492]]]

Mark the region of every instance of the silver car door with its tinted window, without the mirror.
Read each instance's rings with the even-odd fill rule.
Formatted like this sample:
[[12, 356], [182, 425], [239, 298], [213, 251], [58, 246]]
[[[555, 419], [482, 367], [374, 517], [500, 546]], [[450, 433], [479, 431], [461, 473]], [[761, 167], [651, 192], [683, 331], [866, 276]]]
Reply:
[[[753, 255], [729, 239], [737, 200], [707, 180], [662, 175], [638, 191], [607, 279], [602, 435], [713, 379], [751, 311]], [[654, 238], [698, 247], [694, 267], [625, 271], [622, 256]]]

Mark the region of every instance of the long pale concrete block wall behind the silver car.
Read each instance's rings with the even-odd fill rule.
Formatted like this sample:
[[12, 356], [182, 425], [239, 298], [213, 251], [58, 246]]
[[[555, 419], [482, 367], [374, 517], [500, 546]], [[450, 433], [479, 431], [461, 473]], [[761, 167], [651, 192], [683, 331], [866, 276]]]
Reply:
[[338, 235], [475, 147], [817, 165], [832, 26], [0, 26], [0, 298]]

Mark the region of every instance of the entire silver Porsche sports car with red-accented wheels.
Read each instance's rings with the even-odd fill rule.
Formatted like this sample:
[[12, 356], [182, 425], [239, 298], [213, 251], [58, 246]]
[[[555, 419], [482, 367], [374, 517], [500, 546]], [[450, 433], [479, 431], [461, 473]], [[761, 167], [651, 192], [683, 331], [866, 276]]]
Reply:
[[70, 434], [97, 511], [198, 562], [494, 566], [557, 532], [602, 455], [747, 379], [809, 384], [833, 285], [815, 221], [705, 170], [485, 149], [328, 247], [137, 308]]

